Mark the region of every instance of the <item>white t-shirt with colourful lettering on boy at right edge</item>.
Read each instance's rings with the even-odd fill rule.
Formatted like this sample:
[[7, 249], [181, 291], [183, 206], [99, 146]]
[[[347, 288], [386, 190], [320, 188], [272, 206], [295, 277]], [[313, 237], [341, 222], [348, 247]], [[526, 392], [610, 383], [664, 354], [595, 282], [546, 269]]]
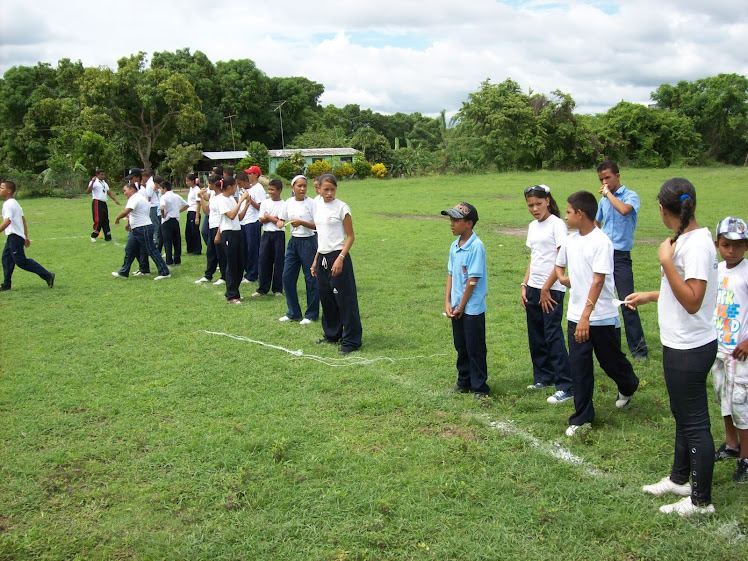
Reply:
[[728, 269], [723, 261], [718, 272], [714, 326], [719, 350], [732, 353], [738, 343], [748, 339], [748, 259], [743, 259], [732, 269]]

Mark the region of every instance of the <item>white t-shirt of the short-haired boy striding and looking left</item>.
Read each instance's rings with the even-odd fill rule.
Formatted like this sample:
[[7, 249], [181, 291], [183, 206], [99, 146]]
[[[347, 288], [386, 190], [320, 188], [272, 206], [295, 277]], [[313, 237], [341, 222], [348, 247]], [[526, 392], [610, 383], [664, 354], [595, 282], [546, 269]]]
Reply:
[[613, 244], [600, 228], [595, 227], [586, 236], [579, 232], [570, 234], [558, 251], [556, 265], [567, 267], [569, 271], [571, 290], [566, 310], [569, 321], [579, 322], [582, 317], [594, 273], [605, 275], [605, 283], [590, 315], [590, 321], [618, 317], [618, 308], [613, 305]]

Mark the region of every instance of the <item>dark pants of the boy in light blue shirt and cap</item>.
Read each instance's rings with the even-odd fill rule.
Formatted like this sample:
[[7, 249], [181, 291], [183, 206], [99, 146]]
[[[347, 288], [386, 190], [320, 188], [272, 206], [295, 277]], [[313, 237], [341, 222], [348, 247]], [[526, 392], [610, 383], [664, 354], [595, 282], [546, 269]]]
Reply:
[[457, 351], [457, 385], [488, 393], [491, 388], [486, 384], [486, 314], [452, 318], [452, 339]]

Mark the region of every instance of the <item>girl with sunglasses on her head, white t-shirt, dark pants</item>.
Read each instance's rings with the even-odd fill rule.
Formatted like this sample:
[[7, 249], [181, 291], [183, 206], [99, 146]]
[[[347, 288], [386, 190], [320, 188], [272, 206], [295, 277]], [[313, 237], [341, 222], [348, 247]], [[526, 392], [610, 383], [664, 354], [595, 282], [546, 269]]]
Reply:
[[541, 389], [553, 384], [556, 392], [547, 399], [548, 403], [563, 403], [574, 393], [569, 353], [561, 326], [566, 287], [556, 278], [555, 265], [558, 249], [569, 232], [559, 218], [558, 205], [547, 185], [525, 189], [525, 202], [535, 218], [527, 229], [526, 245], [531, 254], [520, 286], [532, 358], [533, 384], [527, 389]]

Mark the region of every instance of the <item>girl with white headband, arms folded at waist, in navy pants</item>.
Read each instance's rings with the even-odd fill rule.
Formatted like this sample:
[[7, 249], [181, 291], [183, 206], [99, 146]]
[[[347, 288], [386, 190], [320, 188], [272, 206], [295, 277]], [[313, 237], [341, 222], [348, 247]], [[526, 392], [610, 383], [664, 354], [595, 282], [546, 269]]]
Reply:
[[[319, 318], [319, 291], [312, 276], [312, 263], [317, 253], [317, 232], [314, 230], [314, 201], [306, 196], [307, 181], [303, 175], [291, 180], [293, 197], [286, 201], [281, 219], [291, 224], [291, 239], [283, 263], [283, 290], [288, 311], [279, 321], [299, 321], [307, 325]], [[306, 311], [301, 315], [296, 283], [299, 270], [306, 281]]]

